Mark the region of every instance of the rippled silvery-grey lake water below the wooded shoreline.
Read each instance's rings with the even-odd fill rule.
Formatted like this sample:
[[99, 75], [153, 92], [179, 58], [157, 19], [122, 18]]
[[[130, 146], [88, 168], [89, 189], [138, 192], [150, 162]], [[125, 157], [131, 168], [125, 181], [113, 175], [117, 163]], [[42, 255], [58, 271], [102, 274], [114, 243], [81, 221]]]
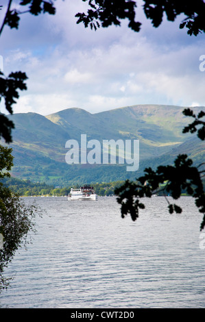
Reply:
[[169, 214], [146, 199], [136, 222], [121, 219], [115, 197], [67, 201], [24, 198], [46, 212], [32, 244], [6, 269], [14, 276], [0, 308], [204, 308], [202, 214], [191, 197]]

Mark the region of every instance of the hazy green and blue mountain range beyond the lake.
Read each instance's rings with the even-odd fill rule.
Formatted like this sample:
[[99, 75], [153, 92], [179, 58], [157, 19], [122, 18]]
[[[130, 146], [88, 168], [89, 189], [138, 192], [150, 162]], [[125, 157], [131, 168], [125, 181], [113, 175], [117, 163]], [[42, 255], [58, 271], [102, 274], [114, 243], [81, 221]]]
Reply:
[[[179, 153], [187, 153], [195, 164], [204, 158], [204, 143], [196, 134], [182, 134], [191, 123], [184, 107], [136, 105], [91, 114], [81, 108], [67, 108], [43, 116], [28, 112], [10, 115], [12, 131], [12, 176], [56, 186], [73, 183], [110, 182], [134, 179], [147, 166], [170, 164]], [[204, 107], [195, 107], [197, 113]], [[67, 164], [67, 140], [139, 140], [138, 171], [126, 171], [126, 164]], [[1, 140], [1, 144], [3, 140]]]

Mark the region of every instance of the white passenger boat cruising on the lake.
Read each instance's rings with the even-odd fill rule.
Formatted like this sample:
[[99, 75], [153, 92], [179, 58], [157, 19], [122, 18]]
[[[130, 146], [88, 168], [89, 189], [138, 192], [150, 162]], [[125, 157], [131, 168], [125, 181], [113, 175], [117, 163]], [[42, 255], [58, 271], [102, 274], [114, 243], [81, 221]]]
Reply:
[[93, 187], [86, 185], [78, 189], [71, 188], [68, 200], [97, 200], [97, 195]]

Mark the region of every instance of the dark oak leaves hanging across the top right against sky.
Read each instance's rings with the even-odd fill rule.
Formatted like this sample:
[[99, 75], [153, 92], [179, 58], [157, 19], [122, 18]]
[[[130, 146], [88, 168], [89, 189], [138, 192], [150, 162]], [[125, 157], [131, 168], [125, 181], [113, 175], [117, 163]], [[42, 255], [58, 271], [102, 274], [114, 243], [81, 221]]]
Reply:
[[[136, 1], [130, 0], [82, 0], [88, 1], [91, 9], [88, 9], [87, 14], [84, 12], [76, 14], [77, 23], [84, 23], [85, 27], [90, 25], [95, 30], [99, 27], [99, 22], [102, 27], [109, 25], [120, 25], [121, 19], [128, 18], [130, 21], [128, 27], [135, 32], [141, 29], [141, 23], [136, 22]], [[186, 1], [186, 0], [144, 0], [143, 10], [145, 16], [151, 19], [154, 27], [158, 27], [162, 23], [164, 14], [168, 21], [175, 21], [177, 16], [183, 14], [185, 18], [180, 23], [180, 29], [186, 27], [187, 34], [195, 35], [205, 32], [205, 3], [203, 0]]]

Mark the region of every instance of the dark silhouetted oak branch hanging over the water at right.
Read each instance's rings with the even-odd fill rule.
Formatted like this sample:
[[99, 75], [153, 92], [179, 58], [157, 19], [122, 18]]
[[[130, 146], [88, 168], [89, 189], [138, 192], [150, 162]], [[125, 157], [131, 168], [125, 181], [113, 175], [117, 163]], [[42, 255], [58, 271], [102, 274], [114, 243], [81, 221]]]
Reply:
[[[146, 185], [145, 182], [147, 182]], [[145, 169], [145, 175], [136, 179], [136, 182], [126, 180], [121, 187], [115, 189], [117, 202], [121, 204], [121, 216], [124, 218], [130, 213], [132, 220], [135, 221], [138, 218], [139, 209], [145, 208], [143, 203], [139, 203], [139, 199], [152, 197], [152, 191], [160, 188], [160, 184], [165, 182], [167, 184], [162, 190], [166, 190], [173, 199], [180, 198], [182, 190], [186, 190], [189, 195], [195, 198], [195, 205], [204, 214], [200, 227], [202, 230], [205, 226], [205, 194], [202, 178], [197, 167], [193, 166], [193, 161], [188, 159], [186, 155], [179, 155], [173, 166], [158, 166], [156, 171], [151, 168]], [[169, 204], [170, 214], [182, 212], [182, 208], [171, 204], [166, 195], [165, 199]]]

